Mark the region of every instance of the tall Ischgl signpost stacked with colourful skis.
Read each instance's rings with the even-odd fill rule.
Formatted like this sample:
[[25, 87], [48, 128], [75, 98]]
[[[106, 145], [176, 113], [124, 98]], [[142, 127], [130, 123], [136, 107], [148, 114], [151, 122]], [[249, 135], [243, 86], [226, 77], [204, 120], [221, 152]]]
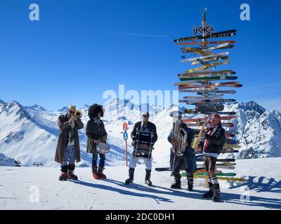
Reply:
[[[188, 127], [195, 130], [195, 134], [197, 134], [197, 136], [195, 135], [195, 141], [197, 141], [200, 131], [210, 125], [211, 114], [220, 114], [222, 125], [226, 130], [226, 144], [223, 153], [237, 153], [237, 148], [240, 148], [240, 146], [235, 140], [235, 134], [237, 133], [233, 130], [235, 125], [232, 122], [236, 118], [235, 112], [223, 111], [224, 104], [236, 100], [233, 97], [225, 99], [224, 96], [225, 94], [235, 94], [236, 91], [233, 88], [242, 87], [242, 85], [237, 82], [235, 71], [218, 69], [218, 66], [225, 66], [230, 63], [229, 50], [234, 48], [236, 41], [228, 39], [235, 36], [237, 31], [231, 29], [213, 32], [213, 27], [207, 25], [206, 10], [203, 13], [202, 26], [193, 27], [193, 31], [194, 36], [174, 40], [176, 45], [181, 46], [181, 51], [184, 54], [180, 62], [191, 63], [192, 66], [184, 73], [178, 74], [181, 82], [174, 85], [178, 87], [179, 92], [189, 93], [189, 95], [180, 99], [179, 103], [195, 106], [195, 109], [185, 109], [184, 113], [202, 116], [183, 121]], [[198, 36], [197, 33], [202, 35]], [[194, 68], [193, 66], [197, 67]], [[198, 151], [197, 146], [193, 148], [196, 148], [197, 153], [202, 155], [202, 151]], [[200, 155], [197, 155], [197, 161], [200, 161]], [[235, 164], [231, 162], [235, 162], [235, 160], [226, 159], [221, 162], [223, 164], [218, 164], [217, 168], [234, 169]]]

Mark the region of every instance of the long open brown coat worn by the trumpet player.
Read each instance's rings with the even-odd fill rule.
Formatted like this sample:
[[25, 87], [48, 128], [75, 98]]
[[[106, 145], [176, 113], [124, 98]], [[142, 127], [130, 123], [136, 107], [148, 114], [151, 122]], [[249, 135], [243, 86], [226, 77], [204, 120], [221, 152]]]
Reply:
[[[68, 134], [71, 130], [70, 119], [67, 115], [62, 115], [58, 118], [57, 123], [58, 127], [60, 128], [60, 135], [58, 137], [58, 144], [55, 151], [55, 162], [62, 163], [65, 156], [65, 148], [68, 144]], [[77, 119], [75, 122], [75, 127], [73, 128], [76, 162], [81, 161], [78, 130], [81, 130], [83, 127], [84, 124], [80, 119]]]

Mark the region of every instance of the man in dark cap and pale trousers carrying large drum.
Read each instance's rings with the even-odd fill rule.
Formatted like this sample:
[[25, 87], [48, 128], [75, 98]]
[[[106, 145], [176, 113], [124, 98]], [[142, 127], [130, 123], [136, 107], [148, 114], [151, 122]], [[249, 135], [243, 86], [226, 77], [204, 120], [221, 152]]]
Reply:
[[131, 139], [133, 140], [132, 145], [134, 150], [130, 158], [129, 179], [126, 179], [126, 185], [133, 183], [133, 174], [135, 172], [136, 164], [138, 160], [141, 159], [145, 162], [145, 184], [152, 186], [152, 182], [150, 181], [152, 169], [151, 154], [158, 137], [156, 126], [155, 124], [150, 123], [149, 118], [150, 114], [145, 112], [143, 113], [143, 120], [133, 126]]

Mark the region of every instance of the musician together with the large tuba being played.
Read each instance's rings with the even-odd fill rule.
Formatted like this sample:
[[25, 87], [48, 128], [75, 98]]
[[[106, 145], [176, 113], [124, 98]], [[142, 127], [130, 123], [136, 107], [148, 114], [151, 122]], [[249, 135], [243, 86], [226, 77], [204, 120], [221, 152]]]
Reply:
[[[195, 150], [191, 147], [193, 130], [181, 120], [181, 115], [174, 122], [168, 141], [171, 143], [170, 170], [174, 176], [173, 189], [181, 189], [181, 169], [185, 169], [188, 179], [188, 190], [193, 190], [193, 173], [196, 171]], [[176, 125], [177, 124], [177, 125]], [[179, 137], [180, 136], [180, 137]], [[176, 154], [176, 156], [175, 156]]]

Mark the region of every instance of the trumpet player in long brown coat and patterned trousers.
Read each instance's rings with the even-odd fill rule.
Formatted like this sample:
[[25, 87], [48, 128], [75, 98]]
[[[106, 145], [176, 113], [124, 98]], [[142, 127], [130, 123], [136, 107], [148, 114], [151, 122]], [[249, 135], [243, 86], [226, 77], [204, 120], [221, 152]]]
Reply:
[[55, 162], [61, 165], [60, 181], [67, 179], [77, 180], [74, 175], [75, 161], [80, 162], [80, 146], [78, 130], [84, 127], [81, 122], [81, 111], [76, 110], [76, 106], [70, 105], [67, 114], [58, 118], [58, 127], [60, 135], [58, 136], [58, 144], [55, 151]]

